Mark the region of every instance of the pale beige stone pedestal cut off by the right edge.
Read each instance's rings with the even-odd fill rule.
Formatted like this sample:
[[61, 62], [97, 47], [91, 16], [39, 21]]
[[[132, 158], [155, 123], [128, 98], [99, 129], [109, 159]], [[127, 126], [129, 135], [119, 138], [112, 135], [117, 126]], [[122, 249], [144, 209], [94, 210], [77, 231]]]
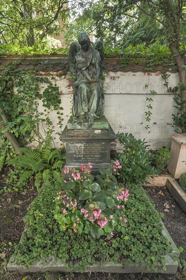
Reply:
[[168, 163], [168, 171], [178, 179], [186, 172], [186, 134], [171, 134], [171, 158]]

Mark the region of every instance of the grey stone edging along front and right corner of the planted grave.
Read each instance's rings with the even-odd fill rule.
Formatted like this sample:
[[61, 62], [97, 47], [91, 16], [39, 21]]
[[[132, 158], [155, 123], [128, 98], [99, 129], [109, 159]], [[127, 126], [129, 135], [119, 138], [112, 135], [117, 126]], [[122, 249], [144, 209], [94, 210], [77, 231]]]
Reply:
[[[163, 225], [163, 223], [162, 223]], [[165, 273], [165, 274], [175, 274], [177, 271], [178, 263], [172, 259], [172, 254], [176, 254], [179, 257], [179, 250], [177, 249], [174, 241], [169, 235], [167, 229], [163, 225], [162, 230], [163, 236], [167, 237], [169, 243], [172, 245], [172, 253], [170, 255], [165, 256], [165, 266], [167, 268], [164, 271], [161, 267], [158, 267], [158, 271], [156, 273]], [[69, 272], [67, 266], [60, 261], [60, 259], [55, 259], [54, 257], [50, 257], [47, 260], [41, 258], [41, 260], [34, 265], [30, 266], [28, 269], [19, 266], [15, 263], [14, 258], [11, 257], [7, 266], [9, 271], [19, 271], [19, 272], [46, 272], [46, 271], [61, 271], [61, 272]], [[147, 270], [145, 265], [137, 265], [133, 264], [131, 266], [123, 265], [122, 263], [111, 263], [106, 262], [102, 267], [99, 264], [89, 265], [85, 272], [110, 272], [110, 273], [154, 273], [152, 270]], [[74, 266], [74, 272], [77, 271], [77, 266]]]

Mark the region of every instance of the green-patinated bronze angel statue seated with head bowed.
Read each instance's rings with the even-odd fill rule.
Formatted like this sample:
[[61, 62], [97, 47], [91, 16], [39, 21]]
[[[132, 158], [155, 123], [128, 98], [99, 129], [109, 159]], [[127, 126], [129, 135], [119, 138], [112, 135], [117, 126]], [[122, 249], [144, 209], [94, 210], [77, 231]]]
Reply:
[[80, 33], [78, 42], [69, 49], [69, 68], [73, 86], [73, 116], [71, 121], [93, 123], [104, 113], [103, 81], [103, 43], [98, 40], [94, 48], [86, 32]]

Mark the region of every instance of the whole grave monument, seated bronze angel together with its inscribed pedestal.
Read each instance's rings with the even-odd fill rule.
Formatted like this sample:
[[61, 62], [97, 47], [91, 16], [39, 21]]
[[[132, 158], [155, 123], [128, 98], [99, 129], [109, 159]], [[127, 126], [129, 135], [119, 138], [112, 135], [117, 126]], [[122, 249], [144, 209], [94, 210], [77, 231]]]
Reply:
[[99, 167], [110, 163], [110, 142], [116, 138], [104, 114], [103, 92], [103, 43], [98, 40], [94, 47], [86, 32], [80, 33], [78, 42], [69, 49], [69, 70], [73, 87], [72, 117], [60, 135], [66, 143], [65, 167], [79, 167], [88, 162]]

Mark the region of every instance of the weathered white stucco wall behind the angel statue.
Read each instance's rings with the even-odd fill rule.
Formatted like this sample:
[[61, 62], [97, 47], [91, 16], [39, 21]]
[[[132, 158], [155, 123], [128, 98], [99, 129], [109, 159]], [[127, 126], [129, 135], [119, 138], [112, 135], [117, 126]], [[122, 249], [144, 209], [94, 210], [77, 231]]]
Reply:
[[[170, 73], [169, 86], [176, 86], [179, 81], [178, 73]], [[61, 93], [61, 105], [63, 106], [63, 128], [65, 128], [72, 107], [73, 90], [67, 77], [56, 77], [56, 84]], [[146, 86], [145, 86], [146, 85]], [[147, 87], [148, 85], [148, 87]], [[163, 146], [170, 147], [169, 134], [174, 132], [172, 127], [173, 95], [168, 93], [164, 86], [161, 73], [151, 72], [108, 72], [104, 82], [105, 89], [105, 117], [108, 119], [114, 132], [129, 132], [138, 139], [144, 139], [150, 145], [150, 149], [158, 149]], [[151, 91], [156, 94], [151, 95]], [[153, 101], [152, 115], [149, 131], [145, 130], [147, 124], [145, 111], [148, 111], [146, 97]], [[42, 110], [42, 106], [40, 105]], [[50, 114], [55, 131], [60, 131], [57, 126], [57, 115], [53, 111]], [[55, 135], [56, 147], [60, 147], [58, 135]]]

